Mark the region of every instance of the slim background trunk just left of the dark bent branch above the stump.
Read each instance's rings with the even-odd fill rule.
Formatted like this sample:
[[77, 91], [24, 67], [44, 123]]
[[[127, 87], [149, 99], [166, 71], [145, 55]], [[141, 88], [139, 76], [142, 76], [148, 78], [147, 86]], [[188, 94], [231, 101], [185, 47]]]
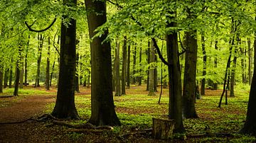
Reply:
[[154, 84], [155, 84], [155, 74], [154, 69], [155, 67], [155, 55], [156, 52], [154, 50], [153, 42], [150, 42], [150, 50], [149, 50], [149, 94], [148, 96], [156, 96], [155, 90], [154, 90]]

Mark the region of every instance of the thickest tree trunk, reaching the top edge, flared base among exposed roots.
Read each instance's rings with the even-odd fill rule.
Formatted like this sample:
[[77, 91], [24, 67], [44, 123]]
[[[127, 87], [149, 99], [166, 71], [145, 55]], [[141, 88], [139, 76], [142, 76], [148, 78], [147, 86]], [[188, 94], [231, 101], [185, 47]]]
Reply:
[[[95, 29], [107, 21], [106, 3], [100, 0], [85, 0], [85, 6], [87, 11], [91, 11], [87, 13], [87, 21], [90, 39], [92, 39], [96, 34]], [[103, 42], [107, 34], [108, 31], [106, 30], [101, 37], [93, 38], [92, 42], [90, 42], [92, 56], [92, 113], [88, 122], [97, 126], [121, 125], [114, 110], [110, 42]]]

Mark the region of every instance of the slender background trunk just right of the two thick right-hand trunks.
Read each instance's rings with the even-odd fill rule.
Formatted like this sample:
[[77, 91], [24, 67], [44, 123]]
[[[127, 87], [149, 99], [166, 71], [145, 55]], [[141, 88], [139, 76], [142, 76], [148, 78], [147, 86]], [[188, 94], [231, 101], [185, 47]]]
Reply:
[[[201, 43], [202, 43], [202, 50], [203, 50], [203, 76], [206, 76], [206, 40], [205, 40], [205, 33], [202, 32], [201, 35]], [[203, 77], [202, 81], [201, 81], [201, 95], [204, 96], [206, 95], [205, 93], [206, 91], [206, 78]]]

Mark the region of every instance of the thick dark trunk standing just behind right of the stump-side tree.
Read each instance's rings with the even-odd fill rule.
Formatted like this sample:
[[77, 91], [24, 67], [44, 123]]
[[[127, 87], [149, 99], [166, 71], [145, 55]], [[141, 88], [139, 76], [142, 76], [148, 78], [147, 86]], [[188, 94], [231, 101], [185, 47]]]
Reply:
[[196, 60], [197, 60], [197, 40], [196, 30], [191, 30], [186, 34], [186, 59], [183, 79], [183, 117], [198, 118], [196, 114]]

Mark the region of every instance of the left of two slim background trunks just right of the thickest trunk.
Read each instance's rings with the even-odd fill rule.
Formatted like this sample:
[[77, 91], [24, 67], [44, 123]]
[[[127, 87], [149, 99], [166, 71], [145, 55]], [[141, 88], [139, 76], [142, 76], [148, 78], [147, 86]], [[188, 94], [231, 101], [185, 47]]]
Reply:
[[117, 46], [115, 47], [115, 86], [116, 86], [116, 93], [114, 96], [121, 96], [121, 87], [120, 87], [120, 73], [119, 73], [119, 63], [120, 63], [120, 59], [119, 59], [119, 42], [117, 42]]

